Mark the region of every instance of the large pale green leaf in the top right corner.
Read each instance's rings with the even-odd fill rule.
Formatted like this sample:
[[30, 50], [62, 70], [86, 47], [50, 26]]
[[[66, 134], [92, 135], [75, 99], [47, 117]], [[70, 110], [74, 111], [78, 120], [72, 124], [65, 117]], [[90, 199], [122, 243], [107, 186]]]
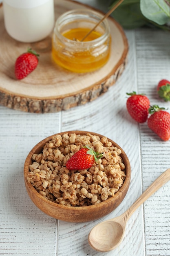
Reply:
[[165, 0], [140, 0], [142, 14], [159, 25], [170, 21], [170, 6]]

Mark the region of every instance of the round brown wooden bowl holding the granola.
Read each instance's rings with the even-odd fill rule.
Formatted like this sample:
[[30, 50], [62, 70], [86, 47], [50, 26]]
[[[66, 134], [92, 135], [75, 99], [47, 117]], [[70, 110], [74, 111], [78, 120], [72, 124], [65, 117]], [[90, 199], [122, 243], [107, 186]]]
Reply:
[[[59, 135], [63, 135], [65, 132], [58, 133]], [[103, 135], [99, 135], [94, 132], [86, 132], [86, 131], [68, 131], [68, 133], [76, 133], [80, 135], [85, 135], [86, 133], [91, 133], [92, 135], [98, 135], [100, 138], [103, 137]], [[54, 135], [51, 135], [47, 137], [46, 139], [43, 139], [40, 141], [37, 145], [34, 146], [34, 148], [30, 151], [28, 156], [26, 157], [25, 164], [24, 164], [24, 182], [26, 186], [27, 193], [33, 203], [44, 213], [47, 215], [59, 219], [64, 220], [68, 222], [87, 222], [91, 220], [96, 220], [99, 218], [102, 218], [103, 216], [107, 215], [111, 211], [113, 211], [115, 208], [118, 207], [118, 205], [122, 202], [124, 199], [128, 188], [130, 184], [130, 175], [131, 175], [131, 168], [130, 168], [130, 162], [128, 160], [127, 155], [124, 153], [124, 150], [122, 150], [119, 145], [117, 145], [114, 141], [111, 139], [108, 139], [108, 141], [111, 141], [113, 146], [121, 149], [121, 157], [123, 160], [123, 163], [126, 167], [125, 174], [126, 178], [124, 180], [123, 185], [121, 188], [115, 193], [115, 195], [111, 198], [108, 198], [107, 200], [100, 202], [99, 204], [89, 205], [89, 206], [83, 206], [83, 207], [75, 207], [75, 206], [64, 206], [57, 204], [55, 202], [51, 202], [50, 200], [44, 198], [36, 189], [33, 187], [31, 183], [28, 182], [28, 172], [29, 172], [29, 165], [32, 164], [32, 155], [34, 153], [41, 153], [43, 146], [49, 142]]]

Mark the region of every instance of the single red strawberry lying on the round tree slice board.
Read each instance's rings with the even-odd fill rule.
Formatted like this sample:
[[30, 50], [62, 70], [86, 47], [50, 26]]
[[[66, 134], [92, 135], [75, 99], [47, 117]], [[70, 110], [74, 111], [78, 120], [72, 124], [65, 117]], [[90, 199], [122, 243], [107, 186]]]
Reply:
[[15, 76], [17, 79], [23, 79], [28, 76], [38, 65], [39, 54], [31, 49], [21, 54], [15, 61]]

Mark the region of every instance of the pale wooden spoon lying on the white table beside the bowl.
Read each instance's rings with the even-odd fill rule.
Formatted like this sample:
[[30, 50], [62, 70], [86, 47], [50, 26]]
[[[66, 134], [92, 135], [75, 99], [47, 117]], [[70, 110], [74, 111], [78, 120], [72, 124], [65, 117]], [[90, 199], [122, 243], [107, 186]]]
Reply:
[[170, 168], [162, 173], [125, 213], [96, 225], [89, 233], [89, 245], [98, 252], [115, 249], [124, 238], [126, 223], [132, 213], [168, 180], [170, 180]]

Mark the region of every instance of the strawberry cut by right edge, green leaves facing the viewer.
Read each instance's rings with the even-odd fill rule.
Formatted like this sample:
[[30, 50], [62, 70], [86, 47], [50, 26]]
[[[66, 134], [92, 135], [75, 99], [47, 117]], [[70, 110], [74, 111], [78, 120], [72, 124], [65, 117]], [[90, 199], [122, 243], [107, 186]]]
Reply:
[[159, 97], [164, 101], [170, 101], [170, 81], [162, 79], [157, 85]]

